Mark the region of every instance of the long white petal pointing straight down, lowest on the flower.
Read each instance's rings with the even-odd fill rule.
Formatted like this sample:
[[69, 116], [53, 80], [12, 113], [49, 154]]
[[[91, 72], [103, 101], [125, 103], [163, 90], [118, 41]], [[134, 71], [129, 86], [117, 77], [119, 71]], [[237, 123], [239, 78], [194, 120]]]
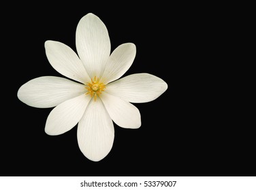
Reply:
[[78, 123], [78, 145], [82, 153], [93, 161], [106, 157], [114, 142], [114, 126], [110, 115], [98, 98], [91, 100]]

